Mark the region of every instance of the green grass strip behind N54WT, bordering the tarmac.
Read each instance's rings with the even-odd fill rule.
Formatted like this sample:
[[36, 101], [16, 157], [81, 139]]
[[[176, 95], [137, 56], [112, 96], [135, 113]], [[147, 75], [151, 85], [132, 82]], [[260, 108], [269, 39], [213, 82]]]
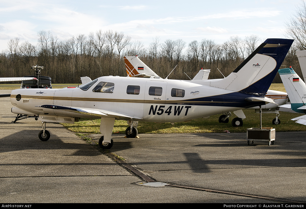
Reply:
[[[247, 128], [258, 128], [259, 114], [255, 110], [243, 110], [246, 119], [243, 120], [242, 127], [233, 127], [231, 121], [236, 115], [232, 115], [229, 123], [219, 123], [218, 118], [221, 115], [213, 115], [210, 118], [199, 118], [189, 122], [177, 122], [172, 125], [171, 123], [154, 123], [142, 122], [138, 123], [138, 133], [222, 133], [225, 130], [231, 133], [246, 132]], [[262, 126], [273, 127], [276, 131], [306, 131], [306, 126], [295, 123], [291, 119], [303, 114], [280, 112], [279, 119], [281, 124], [272, 125], [272, 120], [276, 114], [262, 114]], [[81, 133], [100, 133], [100, 119], [81, 119], [74, 124], [63, 124], [67, 129], [73, 132]], [[113, 133], [125, 134], [125, 129], [128, 127], [126, 121], [115, 121]]]

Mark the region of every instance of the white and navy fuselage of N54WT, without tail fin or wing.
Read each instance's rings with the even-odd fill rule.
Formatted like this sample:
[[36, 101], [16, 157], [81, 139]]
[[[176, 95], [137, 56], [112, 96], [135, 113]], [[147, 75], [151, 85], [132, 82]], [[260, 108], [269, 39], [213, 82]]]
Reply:
[[[109, 90], [102, 90], [105, 83]], [[40, 107], [59, 105], [110, 110], [151, 122], [180, 122], [264, 105], [262, 102], [246, 102], [249, 94], [183, 80], [104, 76], [87, 90], [82, 87], [13, 90], [11, 103], [16, 107], [14, 113], [24, 111], [23, 114], [100, 118]]]

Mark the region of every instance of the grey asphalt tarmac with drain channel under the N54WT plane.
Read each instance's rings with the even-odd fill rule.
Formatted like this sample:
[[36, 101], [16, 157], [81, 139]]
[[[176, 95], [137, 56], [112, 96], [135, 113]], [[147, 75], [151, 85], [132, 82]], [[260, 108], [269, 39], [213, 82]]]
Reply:
[[306, 132], [271, 146], [246, 133], [113, 135], [108, 152], [60, 124], [41, 141], [41, 122], [13, 123], [9, 98], [0, 105], [0, 203], [306, 203]]

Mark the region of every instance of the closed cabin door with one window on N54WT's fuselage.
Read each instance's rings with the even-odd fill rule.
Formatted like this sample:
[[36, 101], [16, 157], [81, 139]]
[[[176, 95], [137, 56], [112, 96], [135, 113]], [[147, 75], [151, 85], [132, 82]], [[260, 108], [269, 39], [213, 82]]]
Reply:
[[148, 80], [144, 92], [144, 119], [151, 122], [165, 121], [167, 82]]

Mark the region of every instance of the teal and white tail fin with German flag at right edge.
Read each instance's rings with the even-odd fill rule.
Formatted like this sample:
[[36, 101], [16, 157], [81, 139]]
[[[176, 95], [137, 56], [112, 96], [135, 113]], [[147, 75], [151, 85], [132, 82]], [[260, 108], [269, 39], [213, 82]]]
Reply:
[[290, 68], [278, 70], [282, 82], [291, 102], [291, 109], [295, 112], [306, 113], [306, 85], [304, 81]]

